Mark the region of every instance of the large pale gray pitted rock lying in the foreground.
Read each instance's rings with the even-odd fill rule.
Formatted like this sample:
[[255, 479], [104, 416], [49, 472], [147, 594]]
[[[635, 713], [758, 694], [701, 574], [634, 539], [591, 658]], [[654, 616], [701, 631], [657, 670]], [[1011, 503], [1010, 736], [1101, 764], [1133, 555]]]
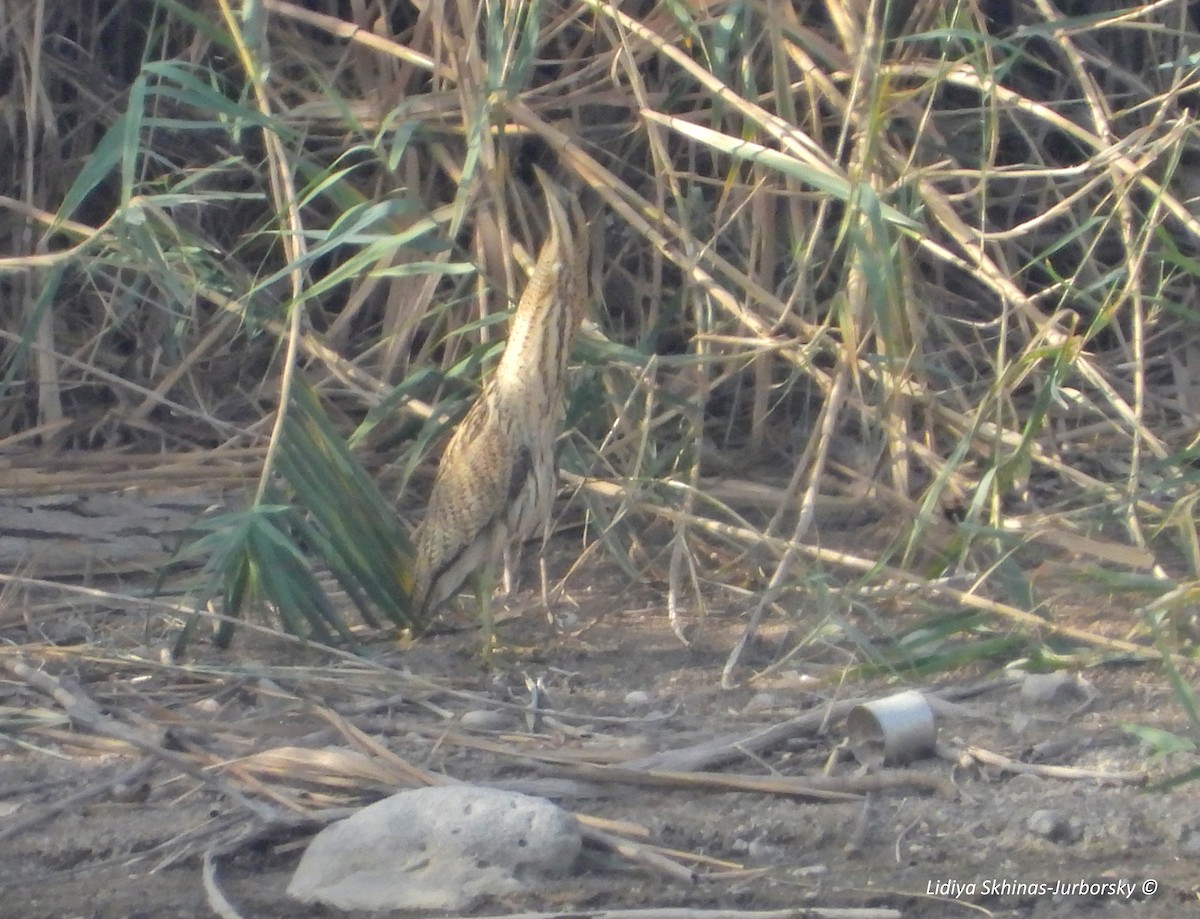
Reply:
[[542, 798], [419, 788], [318, 833], [288, 894], [340, 909], [462, 909], [566, 873], [581, 847], [575, 818]]

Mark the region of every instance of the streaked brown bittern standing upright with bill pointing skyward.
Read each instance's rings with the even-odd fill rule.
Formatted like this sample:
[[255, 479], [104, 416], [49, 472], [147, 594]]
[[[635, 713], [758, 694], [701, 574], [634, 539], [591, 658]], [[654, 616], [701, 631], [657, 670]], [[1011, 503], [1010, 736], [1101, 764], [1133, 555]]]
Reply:
[[554, 500], [554, 442], [571, 340], [587, 300], [587, 223], [540, 170], [550, 235], [492, 378], [450, 438], [416, 531], [414, 596], [432, 615], [469, 577], [491, 651], [494, 571], [509, 546], [545, 525]]

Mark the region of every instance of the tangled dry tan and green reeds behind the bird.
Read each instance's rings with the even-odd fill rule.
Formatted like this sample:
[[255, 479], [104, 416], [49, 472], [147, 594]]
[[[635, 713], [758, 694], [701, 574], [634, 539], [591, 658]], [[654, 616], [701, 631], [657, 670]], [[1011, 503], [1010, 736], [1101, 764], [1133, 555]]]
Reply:
[[[0, 2], [6, 454], [251, 449], [289, 504], [302, 377], [407, 494], [538, 162], [602, 228], [566, 515], [673, 614], [902, 582], [1036, 625], [1063, 552], [1152, 625], [1190, 596], [1187, 5], [230, 6]], [[839, 500], [884, 537], [820, 549]]]

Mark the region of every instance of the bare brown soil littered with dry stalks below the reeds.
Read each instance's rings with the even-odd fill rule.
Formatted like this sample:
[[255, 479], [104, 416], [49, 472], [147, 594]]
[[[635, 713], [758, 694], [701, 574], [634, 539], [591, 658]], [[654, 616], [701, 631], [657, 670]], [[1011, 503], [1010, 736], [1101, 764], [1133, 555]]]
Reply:
[[[1146, 753], [1127, 723], [1186, 733], [1157, 665], [1091, 668], [1064, 698], [1024, 698], [1019, 681], [984, 673], [919, 686], [953, 699], [937, 705], [943, 756], [844, 800], [670, 777], [602, 781], [605, 764], [644, 765], [654, 753], [772, 728], [772, 743], [748, 743], [696, 769], [851, 776], [840, 719], [818, 731], [779, 726], [919, 685], [839, 683], [844, 647], [814, 642], [785, 660], [798, 624], [768, 621], [745, 673], [779, 666], [722, 691], [744, 611], [714, 602], [684, 647], [660, 597], [598, 571], [556, 605], [559, 623], [550, 625], [536, 591], [520, 591], [509, 606], [526, 612], [500, 633], [524, 649], [503, 651], [504, 666], [491, 671], [467, 629], [409, 648], [377, 645], [367, 663], [242, 632], [229, 651], [197, 645], [175, 665], [160, 657], [168, 635], [133, 613], [90, 618], [83, 644], [35, 642], [28, 624], [13, 625], [0, 665], [19, 657], [68, 695], [52, 697], [0, 667], [0, 917], [208, 914], [205, 851], [218, 853], [216, 883], [244, 915], [332, 915], [283, 893], [302, 845], [346, 812], [337, 809], [402, 787], [402, 764], [552, 797], [670, 849], [680, 869], [671, 876], [595, 849], [552, 889], [480, 903], [479, 914], [677, 906], [1093, 917], [1172, 915], [1195, 903], [1200, 792], [1147, 793], [1128, 781], [1142, 774]], [[95, 702], [106, 723], [140, 732], [224, 785], [72, 720], [72, 692]], [[1026, 770], [982, 764], [970, 747]], [[1080, 771], [1055, 776], [1043, 767]], [[264, 830], [247, 803], [294, 825]], [[694, 879], [683, 879], [686, 871]]]

